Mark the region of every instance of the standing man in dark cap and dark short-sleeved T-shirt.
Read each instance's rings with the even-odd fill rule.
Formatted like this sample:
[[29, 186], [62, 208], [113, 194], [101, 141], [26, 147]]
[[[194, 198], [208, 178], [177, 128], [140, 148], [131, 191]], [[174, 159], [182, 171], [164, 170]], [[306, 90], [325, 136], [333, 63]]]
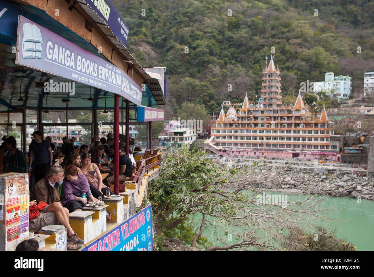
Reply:
[[[35, 183], [42, 180], [47, 175], [48, 170], [53, 162], [52, 150], [50, 144], [45, 139], [42, 139], [42, 133], [35, 131], [33, 133], [34, 140], [30, 143], [30, 165], [28, 170], [31, 172], [31, 165], [34, 162], [34, 180]], [[35, 155], [35, 158], [34, 158]]]

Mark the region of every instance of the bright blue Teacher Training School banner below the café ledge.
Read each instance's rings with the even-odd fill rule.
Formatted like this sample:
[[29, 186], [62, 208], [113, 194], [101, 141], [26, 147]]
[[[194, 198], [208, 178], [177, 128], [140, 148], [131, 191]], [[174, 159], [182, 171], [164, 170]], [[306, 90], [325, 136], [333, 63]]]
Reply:
[[80, 251], [153, 251], [151, 205]]

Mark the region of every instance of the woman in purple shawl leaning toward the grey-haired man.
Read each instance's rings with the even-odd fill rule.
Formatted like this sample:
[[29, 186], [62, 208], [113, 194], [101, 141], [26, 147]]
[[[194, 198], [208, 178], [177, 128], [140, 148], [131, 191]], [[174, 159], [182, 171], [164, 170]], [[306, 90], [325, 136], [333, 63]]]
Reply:
[[94, 198], [87, 178], [83, 174], [79, 174], [79, 168], [74, 165], [69, 165], [65, 170], [65, 179], [62, 184], [61, 204], [66, 207], [70, 213], [73, 211], [82, 211], [88, 199], [82, 197], [83, 193], [95, 203], [99, 203], [98, 199]]

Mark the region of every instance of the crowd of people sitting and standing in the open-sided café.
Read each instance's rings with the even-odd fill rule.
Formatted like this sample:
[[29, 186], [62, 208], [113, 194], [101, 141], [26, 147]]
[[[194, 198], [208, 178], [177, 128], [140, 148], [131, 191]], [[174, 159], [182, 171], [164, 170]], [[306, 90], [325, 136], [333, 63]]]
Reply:
[[[111, 173], [104, 180], [100, 163], [110, 162], [115, 151], [119, 151], [119, 181], [128, 181], [136, 166], [134, 157], [131, 151], [129, 156], [126, 155], [123, 142], [118, 150], [115, 149], [112, 133], [99, 140], [93, 136], [89, 146], [77, 145], [74, 136], [71, 139], [65, 136], [61, 147], [56, 147], [50, 136], [42, 139], [40, 131], [35, 131], [33, 137], [29, 146], [29, 162], [17, 148], [13, 136], [2, 138], [0, 159], [3, 173], [28, 173], [29, 179], [34, 180], [30, 181], [30, 231], [37, 233], [47, 225], [64, 225], [68, 233], [67, 249], [78, 250], [84, 241], [71, 228], [69, 214], [82, 210], [88, 201], [98, 204], [99, 199], [112, 194], [114, 162], [110, 166]], [[32, 183], [34, 186], [31, 186]], [[29, 242], [24, 244], [19, 248], [32, 246]]]

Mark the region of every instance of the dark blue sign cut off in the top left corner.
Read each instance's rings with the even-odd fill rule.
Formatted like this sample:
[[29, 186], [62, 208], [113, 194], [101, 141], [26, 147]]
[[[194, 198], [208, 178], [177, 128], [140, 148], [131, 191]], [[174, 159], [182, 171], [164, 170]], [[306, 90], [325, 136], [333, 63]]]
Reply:
[[27, 17], [27, 12], [0, 0], [0, 34], [2, 39], [12, 42], [12, 44], [16, 42], [18, 15]]

